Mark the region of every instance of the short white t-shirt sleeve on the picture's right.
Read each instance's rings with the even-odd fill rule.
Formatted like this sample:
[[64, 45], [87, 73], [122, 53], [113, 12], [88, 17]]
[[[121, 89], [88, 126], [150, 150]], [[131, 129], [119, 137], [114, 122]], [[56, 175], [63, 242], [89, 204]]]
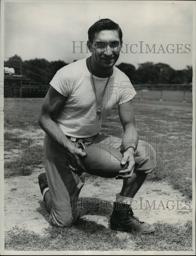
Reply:
[[[122, 84], [121, 84], [122, 85]], [[132, 100], [136, 95], [136, 91], [131, 82], [126, 82], [123, 86], [117, 90], [117, 103], [118, 105], [123, 104], [129, 100]]]

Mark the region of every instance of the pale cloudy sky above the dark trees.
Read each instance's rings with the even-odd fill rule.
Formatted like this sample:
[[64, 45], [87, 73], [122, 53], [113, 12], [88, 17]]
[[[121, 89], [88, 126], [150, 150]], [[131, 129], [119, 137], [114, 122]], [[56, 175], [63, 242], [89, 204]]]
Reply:
[[[183, 69], [192, 65], [192, 5], [189, 1], [5, 2], [4, 60], [15, 54], [23, 61], [45, 58], [71, 63], [87, 58], [89, 27], [109, 18], [123, 31], [123, 48], [116, 65], [125, 62], [137, 68], [139, 63], [152, 61]], [[76, 41], [75, 46], [83, 41], [84, 53], [79, 48], [73, 53], [72, 41]], [[152, 48], [151, 53], [146, 45]]]

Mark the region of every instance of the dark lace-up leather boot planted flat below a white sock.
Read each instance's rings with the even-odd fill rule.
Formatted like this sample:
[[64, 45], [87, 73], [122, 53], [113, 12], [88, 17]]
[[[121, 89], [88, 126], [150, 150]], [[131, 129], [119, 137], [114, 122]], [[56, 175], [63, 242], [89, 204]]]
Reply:
[[114, 202], [114, 209], [110, 218], [111, 229], [120, 231], [138, 231], [146, 234], [155, 231], [155, 228], [146, 222], [139, 221], [134, 217], [133, 211], [128, 204]]

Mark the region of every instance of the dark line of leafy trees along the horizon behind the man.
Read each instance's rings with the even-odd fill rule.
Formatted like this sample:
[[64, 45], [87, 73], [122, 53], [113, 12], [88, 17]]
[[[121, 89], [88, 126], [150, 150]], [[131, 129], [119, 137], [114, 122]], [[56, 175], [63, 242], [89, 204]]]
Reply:
[[[22, 74], [22, 76], [42, 84], [49, 84], [57, 70], [68, 64], [62, 60], [48, 61], [43, 58], [22, 61], [17, 55], [4, 61], [4, 67], [14, 68], [16, 75]], [[175, 70], [165, 63], [159, 62], [154, 64], [147, 61], [139, 64], [137, 69], [134, 65], [124, 62], [116, 65], [116, 67], [123, 71], [130, 81], [134, 81], [135, 84], [192, 83], [192, 66], [186, 66], [182, 70]]]

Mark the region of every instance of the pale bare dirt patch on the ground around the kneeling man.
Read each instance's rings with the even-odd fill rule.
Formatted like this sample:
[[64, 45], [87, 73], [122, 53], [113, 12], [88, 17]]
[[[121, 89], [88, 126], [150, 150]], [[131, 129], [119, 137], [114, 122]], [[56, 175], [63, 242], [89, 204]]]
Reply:
[[[50, 224], [37, 178], [42, 172], [44, 168], [34, 170], [30, 176], [5, 179], [5, 231], [17, 226], [42, 235], [45, 233], [45, 228]], [[98, 181], [86, 180], [79, 201], [82, 215], [110, 228], [112, 201], [115, 201], [115, 193], [121, 190], [121, 186], [122, 180], [102, 178]], [[141, 221], [178, 222], [181, 225], [188, 219], [192, 219], [192, 204], [189, 202], [185, 204], [185, 198], [166, 182], [145, 182], [134, 199], [136, 200], [132, 204], [132, 208], [135, 209], [134, 215]], [[86, 201], [88, 205], [85, 209]], [[94, 204], [97, 205], [95, 210]]]

